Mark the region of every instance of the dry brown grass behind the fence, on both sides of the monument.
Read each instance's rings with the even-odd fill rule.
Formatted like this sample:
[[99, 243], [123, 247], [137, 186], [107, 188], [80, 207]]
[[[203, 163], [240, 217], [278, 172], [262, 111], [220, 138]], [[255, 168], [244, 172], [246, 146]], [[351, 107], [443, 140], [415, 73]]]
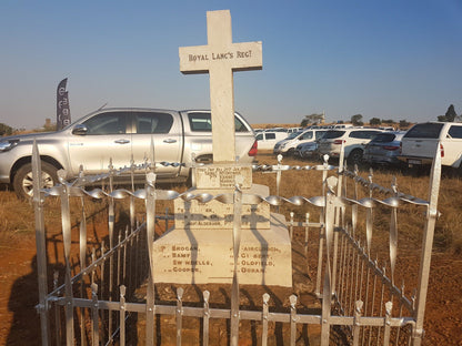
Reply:
[[[274, 155], [270, 153], [261, 153], [258, 156], [260, 164], [275, 164]], [[317, 165], [317, 161], [297, 161], [293, 159], [284, 159], [283, 164], [289, 165]], [[331, 171], [329, 175], [333, 175]], [[368, 169], [361, 171], [363, 177], [368, 177]], [[376, 170], [373, 172], [373, 181], [382, 186], [391, 186], [393, 176], [396, 176], [398, 187], [401, 192], [428, 199], [429, 194], [429, 176], [426, 174], [415, 175], [410, 173], [402, 173], [398, 170], [386, 171]], [[320, 171], [285, 171], [282, 173], [280, 194], [285, 197], [290, 196], [318, 196], [322, 194], [321, 190], [322, 173]], [[270, 193], [275, 194], [275, 174], [274, 173], [254, 173], [254, 183], [265, 184], [270, 186]], [[177, 191], [184, 191], [184, 186], [171, 185], [162, 186], [163, 189], [172, 189]], [[348, 187], [349, 191], [353, 186]], [[454, 174], [443, 174], [439, 197], [439, 211], [441, 216], [436, 222], [434, 248], [438, 251], [450, 251], [454, 254], [462, 254], [462, 234], [460, 225], [462, 224], [462, 204], [459, 202], [459, 193], [462, 192], [461, 176]], [[366, 191], [360, 193], [360, 197], [366, 196]], [[376, 196], [378, 199], [385, 199], [386, 196]], [[73, 203], [79, 203], [79, 201]], [[119, 202], [118, 202], [119, 203]], [[141, 201], [140, 201], [141, 203]], [[171, 203], [170, 203], [171, 204]], [[163, 203], [158, 206], [158, 212], [163, 213], [164, 207], [169, 207], [170, 213], [172, 205]], [[87, 211], [87, 215], [103, 207], [101, 203], [96, 203]], [[78, 207], [76, 208], [78, 210]], [[140, 208], [142, 210], [142, 207]], [[47, 199], [46, 220], [50, 224], [59, 227], [60, 211], [58, 199]], [[297, 220], [304, 220], [305, 213], [310, 213], [311, 221], [319, 220], [319, 210], [309, 204], [303, 206], [293, 206], [289, 203], [281, 205], [281, 213], [289, 215], [289, 212], [294, 212]], [[79, 215], [74, 215], [76, 220]], [[374, 214], [374, 226], [381, 230], [381, 233], [374, 234], [376, 237], [388, 237], [388, 227], [390, 221], [390, 213], [383, 210], [383, 213]], [[360, 225], [363, 223], [364, 215], [360, 212]], [[424, 224], [424, 210], [422, 207], [404, 206], [399, 212], [399, 230], [400, 230], [400, 246], [406, 246], [408, 243], [418, 245], [422, 238]], [[19, 201], [14, 193], [6, 189], [0, 191], [0, 246], [6, 242], [19, 241], [23, 236], [33, 236], [34, 215], [33, 207], [30, 203]]]

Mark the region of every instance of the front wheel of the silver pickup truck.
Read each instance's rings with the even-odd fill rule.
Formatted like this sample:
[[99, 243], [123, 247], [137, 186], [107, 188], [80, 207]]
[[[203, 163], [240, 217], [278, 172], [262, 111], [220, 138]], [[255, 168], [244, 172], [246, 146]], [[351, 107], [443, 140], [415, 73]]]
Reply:
[[[41, 189], [49, 189], [57, 184], [57, 167], [48, 162], [41, 162], [42, 183]], [[27, 163], [14, 174], [13, 189], [18, 197], [29, 200], [33, 196], [32, 164]]]

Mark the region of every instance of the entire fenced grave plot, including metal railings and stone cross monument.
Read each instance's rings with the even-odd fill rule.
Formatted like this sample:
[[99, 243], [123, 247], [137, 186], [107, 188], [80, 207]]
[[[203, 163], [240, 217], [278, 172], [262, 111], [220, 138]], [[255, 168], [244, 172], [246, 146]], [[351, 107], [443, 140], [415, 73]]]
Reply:
[[[284, 340], [290, 345], [307, 340], [310, 345], [340, 342], [420, 345], [438, 214], [439, 153], [428, 201], [400, 193], [394, 184], [385, 189], [374, 184], [372, 176], [363, 179], [356, 171], [348, 171], [342, 156], [339, 166], [327, 161], [314, 166], [288, 166], [281, 162], [239, 165], [233, 150], [232, 74], [261, 68], [261, 42], [232, 43], [229, 11], [208, 12], [208, 45], [180, 48], [182, 72], [210, 74], [213, 122], [213, 164], [191, 167], [194, 186], [189, 191], [158, 189], [155, 164], [159, 163], [149, 160], [121, 170], [110, 167], [104, 176], [84, 176], [82, 172], [73, 182], [61, 179], [60, 185], [40, 191], [37, 183], [41, 176], [40, 147], [34, 146], [33, 202], [42, 345], [170, 345], [169, 333], [177, 345], [213, 345], [217, 320], [224, 322], [222, 342], [231, 345], [238, 345], [240, 339], [255, 340], [259, 345], [280, 345]], [[151, 146], [150, 151], [154, 153], [155, 149]], [[120, 173], [133, 176], [135, 171], [147, 172], [144, 189], [113, 189], [113, 176]], [[289, 171], [298, 171], [310, 184], [319, 184], [322, 193], [270, 195], [268, 186], [252, 182], [254, 174], [275, 174], [279, 191]], [[96, 182], [104, 187], [87, 186]], [[66, 269], [62, 278], [56, 278], [53, 289], [49, 289], [43, 208], [44, 199], [53, 196], [61, 201]], [[72, 228], [70, 220], [70, 208], [76, 206], [70, 201], [74, 199], [81, 202], [78, 230]], [[87, 244], [86, 204], [94, 200], [108, 203], [109, 244], [98, 244], [91, 250]], [[144, 202], [141, 220], [137, 220], [140, 213], [137, 200]], [[173, 203], [172, 214], [157, 214], [162, 202]], [[278, 213], [285, 204], [313, 208], [319, 220], [313, 222], [308, 214], [295, 220], [293, 214]], [[402, 206], [426, 212], [419, 285], [413, 296], [394, 279], [396, 213]], [[125, 228], [117, 230], [116, 220], [121, 213], [129, 215], [129, 222]], [[389, 272], [372, 253], [374, 213], [385, 213], [390, 220]], [[359, 215], [365, 215], [363, 224], [359, 223]], [[72, 261], [76, 255], [71, 251], [72, 232], [79, 232], [77, 265]], [[317, 265], [309, 268], [298, 263], [294, 268], [294, 253], [315, 257]], [[309, 282], [295, 283], [292, 273], [300, 267], [303, 271], [303, 266]], [[201, 291], [210, 284], [220, 288], [209, 292], [205, 287], [200, 301], [183, 302], [185, 291], [191, 287]], [[261, 301], [252, 297], [251, 304], [242, 306], [243, 289], [250, 286], [265, 292]], [[289, 294], [282, 298], [289, 302], [285, 306], [272, 303], [281, 299], [271, 295], [278, 287]], [[307, 292], [307, 287], [313, 289]], [[162, 289], [170, 289], [173, 299], [162, 298]], [[228, 297], [224, 303], [213, 301], [211, 293], [217, 291], [224, 291], [222, 295]], [[315, 302], [300, 311], [303, 294], [311, 294]], [[167, 323], [165, 332], [168, 317], [171, 322]], [[195, 320], [198, 327], [184, 328], [187, 319]], [[250, 322], [249, 329], [244, 322]], [[313, 326], [318, 334], [308, 332]]]

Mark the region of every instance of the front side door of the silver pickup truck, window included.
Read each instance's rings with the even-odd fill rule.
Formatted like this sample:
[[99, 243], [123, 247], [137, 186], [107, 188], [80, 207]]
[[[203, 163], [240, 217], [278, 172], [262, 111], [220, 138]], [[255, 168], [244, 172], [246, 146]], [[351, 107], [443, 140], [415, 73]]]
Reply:
[[112, 159], [114, 169], [130, 165], [131, 133], [127, 131], [129, 114], [123, 111], [98, 113], [74, 126], [69, 140], [69, 160], [73, 174], [82, 164], [87, 174], [108, 172]]

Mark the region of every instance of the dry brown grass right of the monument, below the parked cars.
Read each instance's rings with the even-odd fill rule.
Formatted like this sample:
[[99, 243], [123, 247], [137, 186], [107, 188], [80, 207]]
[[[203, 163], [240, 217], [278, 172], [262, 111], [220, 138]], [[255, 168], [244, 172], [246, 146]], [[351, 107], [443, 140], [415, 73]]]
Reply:
[[[274, 155], [267, 153], [259, 155], [260, 164], [275, 164]], [[282, 164], [289, 165], [317, 165], [319, 161], [298, 161], [293, 159], [284, 159]], [[398, 190], [400, 192], [420, 197], [422, 200], [429, 199], [429, 175], [426, 172], [416, 174], [412, 171], [401, 172], [400, 170], [378, 169], [374, 170], [372, 175], [373, 182], [384, 187], [391, 187], [393, 177], [396, 177]], [[331, 171], [329, 175], [333, 175], [334, 171]], [[370, 174], [369, 167], [360, 167], [360, 175], [368, 179]], [[302, 196], [317, 196], [321, 195], [321, 179], [322, 173], [319, 171], [287, 171], [282, 173], [281, 180], [281, 195], [285, 197], [302, 195]], [[255, 173], [254, 182], [261, 184], [268, 184], [271, 187], [271, 194], [275, 193], [275, 174]], [[352, 193], [353, 184], [348, 185], [348, 190]], [[460, 225], [462, 224], [462, 203], [460, 203], [460, 193], [462, 192], [462, 179], [458, 174], [453, 174], [451, 171], [443, 170], [443, 176], [441, 180], [440, 195], [439, 195], [439, 212], [441, 213], [434, 235], [434, 250], [435, 251], [450, 251], [454, 254], [462, 254], [462, 233], [460, 232]], [[359, 199], [369, 196], [369, 192], [364, 189], [360, 189]], [[390, 195], [380, 195], [374, 193], [374, 197], [384, 200]], [[298, 218], [304, 218], [307, 212], [310, 213], [310, 218], [317, 221], [319, 212], [310, 205], [304, 206], [281, 206], [281, 212], [285, 215], [290, 211], [295, 213]], [[384, 207], [379, 208], [380, 212], [374, 213], [374, 230], [379, 232], [374, 234], [376, 237], [383, 237], [386, 240], [389, 236], [390, 226], [390, 211]], [[414, 205], [403, 205], [398, 213], [398, 226], [400, 238], [400, 246], [419, 247], [422, 241], [422, 233], [424, 230], [425, 210], [423, 207], [416, 207]], [[360, 211], [359, 228], [363, 228], [365, 213]]]

